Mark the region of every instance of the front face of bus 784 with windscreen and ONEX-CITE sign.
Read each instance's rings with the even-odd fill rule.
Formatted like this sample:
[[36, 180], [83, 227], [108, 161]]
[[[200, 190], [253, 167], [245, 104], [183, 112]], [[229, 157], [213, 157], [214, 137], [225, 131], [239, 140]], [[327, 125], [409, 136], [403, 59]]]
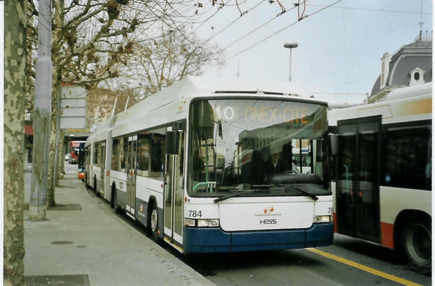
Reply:
[[184, 253], [332, 244], [325, 104], [227, 97], [190, 110]]

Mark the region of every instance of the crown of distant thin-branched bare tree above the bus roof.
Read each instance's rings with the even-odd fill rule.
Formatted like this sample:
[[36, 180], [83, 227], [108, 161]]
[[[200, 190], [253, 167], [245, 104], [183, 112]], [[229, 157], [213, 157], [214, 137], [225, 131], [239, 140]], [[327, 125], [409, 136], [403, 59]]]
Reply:
[[159, 37], [134, 44], [134, 52], [119, 79], [130, 82], [138, 99], [187, 75], [201, 75], [201, 69], [222, 61], [224, 55], [217, 44], [186, 34], [184, 29], [169, 29]]

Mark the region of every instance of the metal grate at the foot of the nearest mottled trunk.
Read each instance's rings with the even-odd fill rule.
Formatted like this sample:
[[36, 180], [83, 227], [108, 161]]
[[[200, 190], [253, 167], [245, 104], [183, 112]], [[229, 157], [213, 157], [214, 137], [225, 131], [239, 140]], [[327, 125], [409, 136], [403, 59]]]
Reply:
[[87, 274], [24, 276], [28, 286], [89, 286]]

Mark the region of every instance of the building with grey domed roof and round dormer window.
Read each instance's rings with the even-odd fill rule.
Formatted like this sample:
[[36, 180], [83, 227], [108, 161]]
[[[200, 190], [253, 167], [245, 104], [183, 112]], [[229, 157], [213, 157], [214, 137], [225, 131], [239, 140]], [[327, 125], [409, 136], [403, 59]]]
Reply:
[[381, 74], [368, 97], [368, 103], [384, 101], [393, 89], [432, 81], [432, 32], [418, 36], [391, 56], [381, 57]]

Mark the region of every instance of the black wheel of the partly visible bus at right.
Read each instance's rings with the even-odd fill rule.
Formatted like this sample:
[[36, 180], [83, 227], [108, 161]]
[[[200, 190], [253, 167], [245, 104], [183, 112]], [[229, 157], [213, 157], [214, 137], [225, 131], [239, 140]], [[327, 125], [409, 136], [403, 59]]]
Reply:
[[403, 250], [409, 260], [417, 265], [431, 264], [432, 234], [424, 222], [408, 222], [403, 229]]

